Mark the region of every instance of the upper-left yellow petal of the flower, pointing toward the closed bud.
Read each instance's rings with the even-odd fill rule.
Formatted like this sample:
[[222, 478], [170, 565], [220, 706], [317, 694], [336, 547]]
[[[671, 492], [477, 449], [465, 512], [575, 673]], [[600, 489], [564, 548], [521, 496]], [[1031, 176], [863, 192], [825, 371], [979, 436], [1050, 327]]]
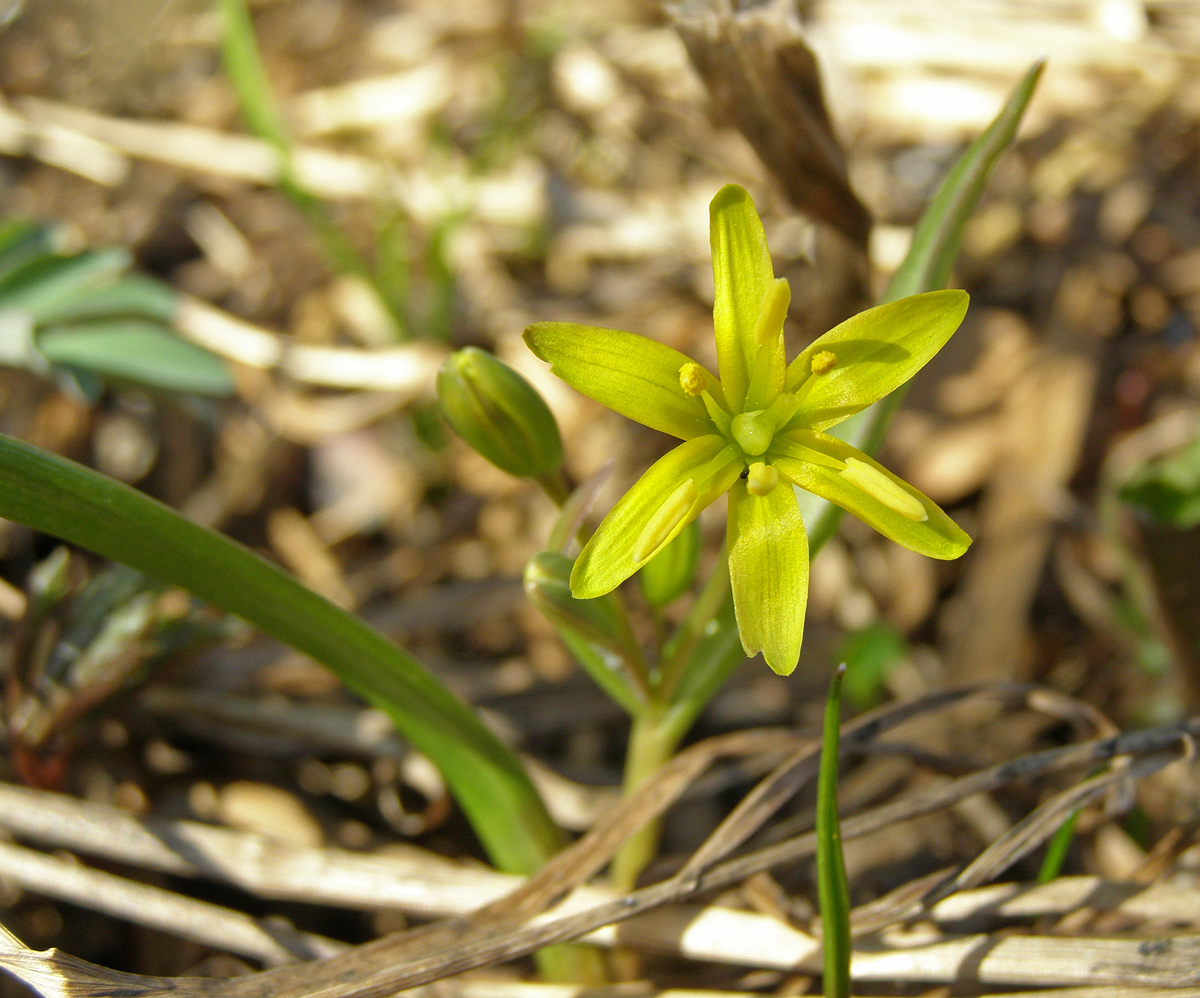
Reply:
[[[534, 323], [524, 341], [572, 389], [623, 416], [683, 440], [713, 432], [703, 401], [679, 385], [679, 368], [694, 362], [686, 354], [632, 332], [577, 323]], [[709, 392], [719, 395], [716, 379], [703, 374]]]

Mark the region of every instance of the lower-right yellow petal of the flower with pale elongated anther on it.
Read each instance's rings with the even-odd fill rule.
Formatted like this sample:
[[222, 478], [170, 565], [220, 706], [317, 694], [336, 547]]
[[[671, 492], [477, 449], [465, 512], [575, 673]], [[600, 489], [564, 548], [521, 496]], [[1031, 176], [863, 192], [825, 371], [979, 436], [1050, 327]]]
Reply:
[[[860, 462], [862, 475], [845, 474], [847, 459]], [[958, 558], [971, 539], [930, 498], [904, 479], [828, 433], [793, 429], [772, 443], [770, 463], [806, 492], [853, 513], [868, 527], [930, 558]], [[919, 507], [919, 509], [918, 509]], [[924, 521], [916, 519], [924, 513]]]

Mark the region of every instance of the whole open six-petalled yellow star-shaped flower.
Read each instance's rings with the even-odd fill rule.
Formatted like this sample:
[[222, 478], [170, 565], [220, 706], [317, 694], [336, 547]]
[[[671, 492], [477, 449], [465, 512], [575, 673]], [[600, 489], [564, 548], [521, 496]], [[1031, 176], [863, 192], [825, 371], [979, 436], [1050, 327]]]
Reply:
[[653, 339], [575, 323], [535, 323], [529, 348], [572, 387], [684, 440], [605, 517], [576, 559], [580, 599], [611, 591], [728, 492], [728, 557], [738, 631], [791, 673], [800, 654], [809, 554], [787, 482], [854, 513], [932, 558], [971, 539], [930, 499], [868, 455], [822, 431], [916, 374], [949, 339], [966, 291], [913, 295], [847, 319], [784, 357], [791, 297], [776, 279], [750, 196], [730, 185], [710, 205], [713, 321], [720, 379]]

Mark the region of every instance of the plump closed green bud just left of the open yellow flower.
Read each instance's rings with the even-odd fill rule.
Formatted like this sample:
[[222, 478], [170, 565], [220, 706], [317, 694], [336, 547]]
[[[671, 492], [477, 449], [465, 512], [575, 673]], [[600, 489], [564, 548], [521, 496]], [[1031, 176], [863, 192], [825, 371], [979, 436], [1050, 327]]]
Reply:
[[438, 402], [455, 433], [520, 479], [557, 471], [563, 439], [553, 414], [524, 378], [486, 350], [467, 347], [438, 371]]

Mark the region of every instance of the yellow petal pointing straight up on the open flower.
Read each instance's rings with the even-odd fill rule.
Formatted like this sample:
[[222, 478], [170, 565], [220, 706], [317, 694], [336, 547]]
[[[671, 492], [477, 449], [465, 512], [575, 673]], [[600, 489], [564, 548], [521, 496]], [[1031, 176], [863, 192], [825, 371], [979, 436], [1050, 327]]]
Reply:
[[708, 209], [713, 250], [713, 326], [721, 385], [733, 411], [742, 409], [754, 372], [754, 330], [775, 277], [762, 221], [750, 196], [728, 184]]

